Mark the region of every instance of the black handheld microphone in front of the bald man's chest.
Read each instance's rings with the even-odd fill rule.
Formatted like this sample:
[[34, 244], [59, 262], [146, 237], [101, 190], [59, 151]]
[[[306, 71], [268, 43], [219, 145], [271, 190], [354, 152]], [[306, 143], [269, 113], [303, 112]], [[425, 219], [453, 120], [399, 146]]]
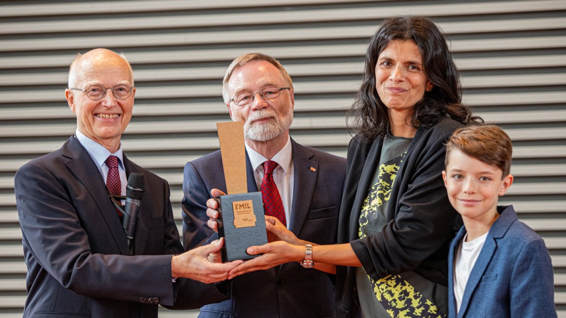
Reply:
[[145, 191], [145, 175], [143, 173], [132, 172], [128, 177], [128, 185], [126, 186], [126, 206], [124, 207], [124, 215], [122, 216], [122, 227], [126, 232], [128, 239], [128, 247], [131, 248], [136, 224], [138, 223], [138, 210], [140, 208], [141, 196]]

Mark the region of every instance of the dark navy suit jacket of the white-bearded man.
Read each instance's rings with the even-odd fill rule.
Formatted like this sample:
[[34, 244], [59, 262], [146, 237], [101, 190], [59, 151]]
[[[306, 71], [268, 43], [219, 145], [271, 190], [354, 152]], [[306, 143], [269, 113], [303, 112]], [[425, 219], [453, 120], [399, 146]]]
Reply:
[[[335, 242], [345, 158], [295, 143], [293, 207], [290, 230], [318, 244]], [[247, 155], [246, 155], [247, 156]], [[316, 171], [310, 170], [314, 167]], [[248, 192], [256, 192], [247, 160]], [[190, 249], [216, 237], [206, 225], [205, 203], [212, 188], [226, 190], [220, 151], [185, 166], [183, 181], [183, 239]], [[333, 284], [327, 274], [288, 263], [231, 281], [231, 299], [201, 308], [199, 317], [328, 317], [333, 315]]]

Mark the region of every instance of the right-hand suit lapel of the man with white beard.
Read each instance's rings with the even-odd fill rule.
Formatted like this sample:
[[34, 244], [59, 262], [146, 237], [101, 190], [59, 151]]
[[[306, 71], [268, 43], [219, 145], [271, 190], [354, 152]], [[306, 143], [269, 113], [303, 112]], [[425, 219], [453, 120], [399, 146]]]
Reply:
[[[318, 162], [310, 160], [314, 154], [295, 143], [291, 139], [291, 147], [293, 149], [293, 203], [291, 204], [291, 224], [289, 229], [299, 235], [305, 219], [307, 217], [308, 208], [311, 205], [312, 195], [315, 191], [316, 177], [318, 175]], [[311, 167], [315, 171], [311, 170]], [[321, 189], [320, 189], [321, 190]]]

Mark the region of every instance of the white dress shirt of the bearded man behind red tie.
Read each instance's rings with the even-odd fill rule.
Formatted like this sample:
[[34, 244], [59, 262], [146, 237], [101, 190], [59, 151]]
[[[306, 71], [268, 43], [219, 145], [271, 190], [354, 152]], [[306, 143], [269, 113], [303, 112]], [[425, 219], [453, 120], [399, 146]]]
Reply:
[[[252, 169], [254, 169], [255, 183], [258, 185], [258, 190], [261, 190], [261, 180], [263, 179], [263, 162], [268, 160], [261, 156], [254, 149], [246, 144], [246, 151], [250, 157]], [[287, 143], [278, 151], [272, 161], [277, 162], [277, 167], [273, 170], [273, 181], [279, 190], [283, 209], [285, 209], [285, 220], [287, 220], [287, 227], [291, 224], [291, 207], [293, 203], [293, 151], [291, 149], [291, 138], [288, 137]]]

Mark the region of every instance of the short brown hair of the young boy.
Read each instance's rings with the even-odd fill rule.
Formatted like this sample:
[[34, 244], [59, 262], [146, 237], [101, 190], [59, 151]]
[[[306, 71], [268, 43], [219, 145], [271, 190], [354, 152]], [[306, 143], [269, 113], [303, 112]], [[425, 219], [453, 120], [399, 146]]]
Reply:
[[454, 148], [488, 165], [498, 167], [503, 171], [502, 179], [511, 172], [513, 145], [509, 136], [498, 126], [468, 126], [454, 131], [446, 144], [444, 164], [447, 166], [448, 156]]

